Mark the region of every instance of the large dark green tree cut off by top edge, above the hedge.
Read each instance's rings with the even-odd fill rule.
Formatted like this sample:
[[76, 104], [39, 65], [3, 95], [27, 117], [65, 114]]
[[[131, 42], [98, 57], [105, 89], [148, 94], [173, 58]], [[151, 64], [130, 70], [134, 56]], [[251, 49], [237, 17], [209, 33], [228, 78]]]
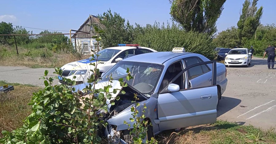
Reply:
[[216, 22], [224, 9], [225, 1], [170, 0], [170, 14], [186, 31], [206, 32], [212, 35], [217, 31]]

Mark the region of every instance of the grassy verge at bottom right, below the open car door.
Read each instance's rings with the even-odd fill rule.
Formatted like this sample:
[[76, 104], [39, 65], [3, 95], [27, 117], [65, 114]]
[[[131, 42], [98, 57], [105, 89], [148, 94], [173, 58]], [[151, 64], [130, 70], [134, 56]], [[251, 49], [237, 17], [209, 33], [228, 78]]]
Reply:
[[273, 144], [276, 143], [276, 132], [218, 120], [214, 124], [188, 127], [178, 133], [165, 131], [157, 139], [163, 144]]

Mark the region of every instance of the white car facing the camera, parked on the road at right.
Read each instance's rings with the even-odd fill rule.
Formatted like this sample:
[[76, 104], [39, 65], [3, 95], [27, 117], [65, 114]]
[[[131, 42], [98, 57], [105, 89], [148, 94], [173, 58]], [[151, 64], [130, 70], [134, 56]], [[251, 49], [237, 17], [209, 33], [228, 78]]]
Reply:
[[231, 49], [225, 57], [225, 66], [250, 66], [251, 65], [251, 53], [247, 48], [234, 48]]

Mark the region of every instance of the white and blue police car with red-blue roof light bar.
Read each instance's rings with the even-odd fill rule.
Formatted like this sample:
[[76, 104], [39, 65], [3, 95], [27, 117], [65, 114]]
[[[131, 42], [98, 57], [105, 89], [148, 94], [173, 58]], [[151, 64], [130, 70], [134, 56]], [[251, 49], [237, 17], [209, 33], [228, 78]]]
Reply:
[[[149, 52], [157, 51], [148, 47], [140, 47], [138, 44], [118, 44], [118, 47], [109, 47], [99, 51], [98, 58], [96, 55], [94, 56], [95, 59], [101, 62], [98, 63], [97, 68], [102, 74], [124, 58]], [[92, 56], [90, 56], [88, 59], [75, 61], [62, 66], [61, 70], [63, 72], [61, 74], [62, 77], [59, 76], [59, 84], [65, 84], [63, 78], [75, 80], [76, 84], [87, 82], [87, 78], [93, 74], [90, 70], [94, 70], [94, 66], [90, 65], [90, 63], [95, 62], [95, 60], [92, 60]], [[75, 79], [73, 78], [74, 76], [76, 76]]]

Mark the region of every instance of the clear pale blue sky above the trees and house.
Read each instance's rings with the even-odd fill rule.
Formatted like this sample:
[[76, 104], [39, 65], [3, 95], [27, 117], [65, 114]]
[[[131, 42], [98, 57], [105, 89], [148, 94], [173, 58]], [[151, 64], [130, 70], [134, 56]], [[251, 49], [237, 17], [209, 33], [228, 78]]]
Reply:
[[[218, 32], [236, 26], [244, 0], [226, 0], [224, 10], [217, 21]], [[33, 33], [50, 29], [77, 30], [89, 14], [98, 15], [111, 9], [131, 24], [165, 24], [172, 22], [171, 4], [168, 0], [0, 0], [0, 22], [20, 25]], [[259, 0], [257, 7], [264, 7], [262, 24], [276, 24], [276, 0]], [[65, 33], [65, 32], [63, 32]]]

